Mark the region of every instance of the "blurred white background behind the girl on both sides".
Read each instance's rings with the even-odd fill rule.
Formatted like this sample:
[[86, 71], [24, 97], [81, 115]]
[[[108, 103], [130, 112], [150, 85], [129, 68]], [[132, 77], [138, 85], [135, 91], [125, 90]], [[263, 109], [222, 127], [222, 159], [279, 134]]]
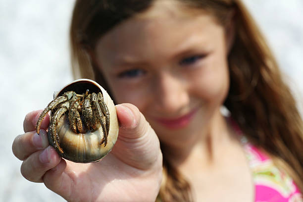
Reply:
[[[265, 34], [302, 110], [303, 1], [244, 0]], [[72, 80], [68, 28], [74, 0], [0, 0], [0, 202], [63, 202], [25, 180], [11, 152], [29, 111]]]

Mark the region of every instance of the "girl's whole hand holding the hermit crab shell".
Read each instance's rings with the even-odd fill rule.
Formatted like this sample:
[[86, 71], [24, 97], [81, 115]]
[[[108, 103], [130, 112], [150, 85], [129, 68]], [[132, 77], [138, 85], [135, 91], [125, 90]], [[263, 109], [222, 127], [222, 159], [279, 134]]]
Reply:
[[39, 136], [35, 125], [41, 111], [27, 114], [25, 134], [12, 145], [23, 160], [22, 175], [44, 182], [69, 202], [154, 202], [162, 180], [159, 140], [137, 107], [125, 103], [116, 110], [120, 128], [115, 146], [100, 162], [85, 164], [64, 160], [49, 146], [48, 115]]

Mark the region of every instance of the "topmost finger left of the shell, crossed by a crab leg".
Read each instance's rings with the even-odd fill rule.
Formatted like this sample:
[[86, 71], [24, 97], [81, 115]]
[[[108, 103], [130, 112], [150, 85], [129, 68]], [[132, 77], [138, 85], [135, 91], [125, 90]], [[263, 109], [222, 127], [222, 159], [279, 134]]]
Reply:
[[[25, 133], [36, 130], [37, 120], [42, 111], [43, 110], [36, 110], [36, 111], [32, 111], [32, 112], [29, 112], [28, 114], [26, 114], [24, 121], [23, 121], [23, 130]], [[42, 121], [41, 128], [46, 130], [48, 128], [49, 124], [50, 124], [50, 115], [47, 114]]]

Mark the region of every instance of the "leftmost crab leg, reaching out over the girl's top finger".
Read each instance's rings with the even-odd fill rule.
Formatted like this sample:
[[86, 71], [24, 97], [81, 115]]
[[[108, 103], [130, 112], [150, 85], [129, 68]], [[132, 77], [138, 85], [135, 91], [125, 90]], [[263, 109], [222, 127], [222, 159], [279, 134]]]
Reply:
[[76, 94], [73, 91], [69, 91], [64, 93], [62, 96], [57, 97], [56, 99], [52, 100], [48, 106], [43, 110], [43, 112], [40, 114], [38, 121], [37, 121], [37, 125], [36, 125], [36, 131], [39, 134], [40, 133], [40, 127], [42, 124], [42, 121], [44, 119], [44, 117], [47, 115], [47, 113], [50, 110], [53, 110], [58, 104], [70, 100], [72, 97], [74, 97]]

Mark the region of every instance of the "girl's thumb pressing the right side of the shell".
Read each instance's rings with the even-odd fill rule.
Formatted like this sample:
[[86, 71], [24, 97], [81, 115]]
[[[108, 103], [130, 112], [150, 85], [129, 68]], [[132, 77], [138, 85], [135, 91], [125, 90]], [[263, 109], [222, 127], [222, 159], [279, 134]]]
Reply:
[[119, 136], [112, 153], [138, 169], [151, 169], [162, 162], [159, 139], [139, 109], [130, 103], [116, 105]]

